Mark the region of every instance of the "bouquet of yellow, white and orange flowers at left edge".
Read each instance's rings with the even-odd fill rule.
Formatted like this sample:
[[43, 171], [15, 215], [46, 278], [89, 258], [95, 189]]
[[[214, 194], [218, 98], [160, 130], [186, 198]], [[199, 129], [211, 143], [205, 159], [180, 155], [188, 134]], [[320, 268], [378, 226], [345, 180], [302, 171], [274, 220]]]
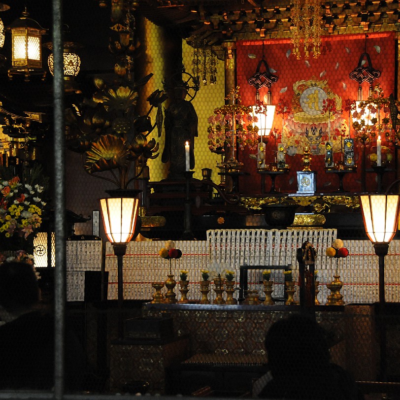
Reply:
[[46, 202], [42, 200], [44, 186], [35, 183], [38, 172], [32, 172], [24, 182], [19, 176], [0, 181], [0, 233], [5, 237], [17, 233], [26, 239], [40, 227]]

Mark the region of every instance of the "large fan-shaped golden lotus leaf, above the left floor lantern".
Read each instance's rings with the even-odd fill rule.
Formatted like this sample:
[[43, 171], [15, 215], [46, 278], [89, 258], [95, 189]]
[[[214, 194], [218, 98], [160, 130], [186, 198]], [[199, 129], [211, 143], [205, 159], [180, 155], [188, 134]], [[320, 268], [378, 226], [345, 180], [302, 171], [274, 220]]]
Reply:
[[111, 134], [100, 136], [86, 153], [85, 168], [89, 172], [107, 171], [125, 167], [130, 157], [130, 146], [127, 141]]

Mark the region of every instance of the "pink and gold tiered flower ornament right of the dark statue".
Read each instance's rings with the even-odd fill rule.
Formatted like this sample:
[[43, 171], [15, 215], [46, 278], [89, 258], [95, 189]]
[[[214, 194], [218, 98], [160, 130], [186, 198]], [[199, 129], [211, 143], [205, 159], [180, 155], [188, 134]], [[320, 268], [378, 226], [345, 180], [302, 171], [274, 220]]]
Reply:
[[[234, 104], [226, 104], [214, 109], [214, 115], [208, 117], [208, 148], [215, 152], [224, 152], [224, 145], [231, 146], [232, 135], [236, 135], [238, 147], [255, 149], [258, 144], [258, 127], [253, 126], [251, 107], [240, 104], [238, 89], [232, 89], [225, 100], [233, 99]], [[257, 122], [257, 121], [254, 121]]]

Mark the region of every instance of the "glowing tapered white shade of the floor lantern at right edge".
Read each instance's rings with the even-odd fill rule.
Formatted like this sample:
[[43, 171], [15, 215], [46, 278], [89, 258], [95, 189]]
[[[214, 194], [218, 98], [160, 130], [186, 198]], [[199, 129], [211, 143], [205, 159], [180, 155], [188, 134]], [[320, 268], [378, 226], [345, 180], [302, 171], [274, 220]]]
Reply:
[[369, 240], [389, 243], [398, 228], [400, 195], [362, 195], [360, 204]]

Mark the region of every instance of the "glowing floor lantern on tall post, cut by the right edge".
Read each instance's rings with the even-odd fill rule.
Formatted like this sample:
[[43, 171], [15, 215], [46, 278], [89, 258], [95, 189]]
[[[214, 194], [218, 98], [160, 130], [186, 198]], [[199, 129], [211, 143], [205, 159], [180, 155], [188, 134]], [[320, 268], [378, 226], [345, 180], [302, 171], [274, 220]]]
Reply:
[[379, 312], [380, 324], [380, 364], [382, 379], [386, 379], [386, 327], [385, 316], [385, 256], [389, 243], [398, 230], [400, 195], [390, 195], [390, 189], [400, 180], [389, 186], [384, 195], [360, 196], [364, 227], [369, 240], [373, 243], [375, 254], [379, 258]]

